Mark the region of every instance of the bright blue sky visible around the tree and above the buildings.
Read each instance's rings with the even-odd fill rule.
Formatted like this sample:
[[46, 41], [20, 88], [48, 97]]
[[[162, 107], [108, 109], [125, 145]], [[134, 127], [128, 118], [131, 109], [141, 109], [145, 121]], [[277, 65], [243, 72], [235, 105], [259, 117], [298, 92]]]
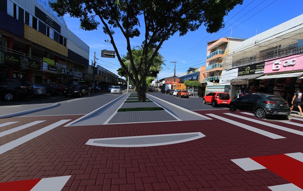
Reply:
[[[176, 76], [184, 75], [190, 67], [205, 66], [207, 42], [223, 37], [251, 38], [303, 14], [302, 6], [302, 0], [244, 0], [242, 5], [237, 5], [224, 17], [225, 27], [216, 33], [207, 33], [203, 25], [197, 31], [189, 31], [182, 37], [176, 33], [165, 41], [159, 50], [165, 65], [162, 65], [158, 80], [174, 76], [174, 65]], [[95, 31], [84, 31], [79, 27], [79, 19], [69, 15], [65, 15], [64, 19], [68, 29], [90, 47], [90, 64], [96, 52], [97, 65], [117, 74], [117, 69], [120, 68], [117, 57], [101, 57], [102, 49], [114, 50], [111, 44], [105, 42], [109, 37], [103, 33], [102, 25]], [[119, 54], [126, 55], [125, 38], [116, 33], [114, 40]], [[141, 45], [142, 38], [130, 41], [131, 46], [136, 47]]]

